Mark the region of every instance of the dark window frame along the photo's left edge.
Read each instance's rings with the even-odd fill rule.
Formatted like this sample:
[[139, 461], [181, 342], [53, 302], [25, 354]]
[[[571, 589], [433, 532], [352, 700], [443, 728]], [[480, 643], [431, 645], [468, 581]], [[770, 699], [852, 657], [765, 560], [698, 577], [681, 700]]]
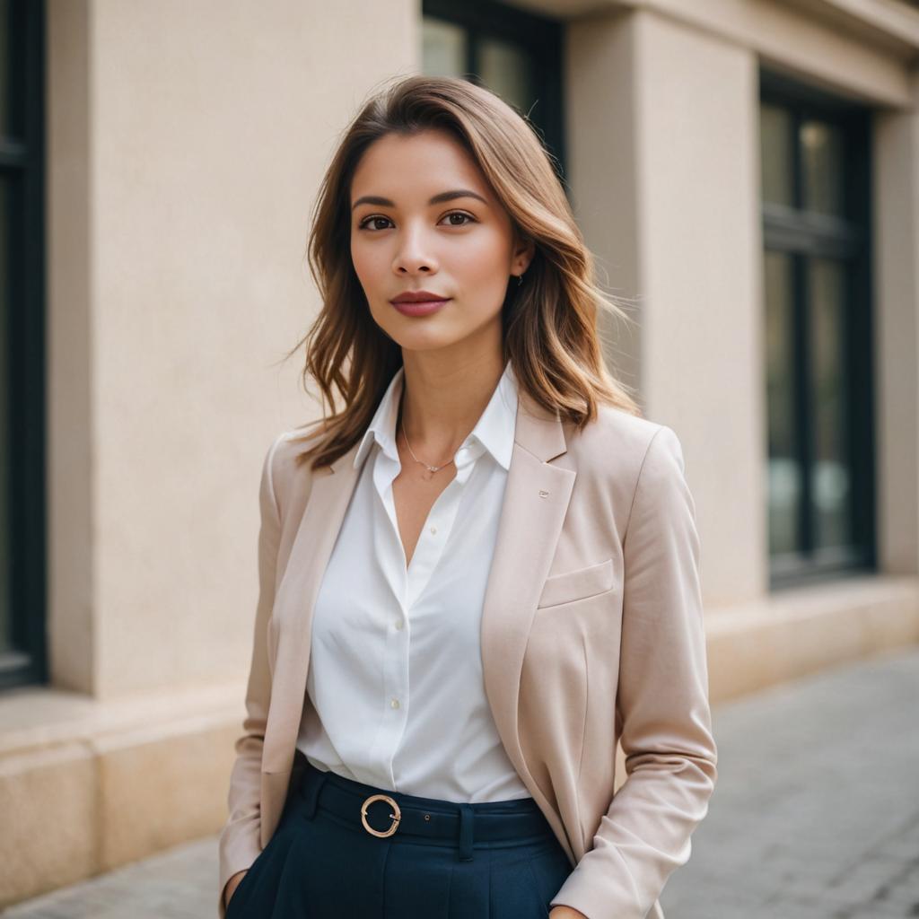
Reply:
[[45, 5], [10, 0], [8, 23], [11, 121], [0, 125], [0, 175], [9, 191], [6, 341], [10, 445], [6, 489], [14, 651], [0, 654], [0, 688], [48, 679], [45, 494]]

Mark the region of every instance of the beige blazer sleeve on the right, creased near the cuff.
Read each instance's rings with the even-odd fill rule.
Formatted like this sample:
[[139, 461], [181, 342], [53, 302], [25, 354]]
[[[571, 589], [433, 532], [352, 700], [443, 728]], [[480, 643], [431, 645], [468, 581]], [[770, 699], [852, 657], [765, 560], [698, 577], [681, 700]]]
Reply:
[[[645, 919], [684, 865], [717, 777], [695, 505], [674, 431], [645, 452], [623, 538], [617, 733], [627, 778], [552, 905]], [[610, 755], [615, 751], [611, 750]]]

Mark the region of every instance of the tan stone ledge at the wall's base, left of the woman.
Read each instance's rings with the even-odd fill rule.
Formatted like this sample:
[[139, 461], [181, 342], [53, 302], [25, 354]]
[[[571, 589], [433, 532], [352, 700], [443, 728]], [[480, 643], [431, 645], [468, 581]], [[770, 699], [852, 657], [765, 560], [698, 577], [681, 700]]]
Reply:
[[244, 682], [118, 701], [6, 694], [0, 909], [217, 833], [244, 696]]

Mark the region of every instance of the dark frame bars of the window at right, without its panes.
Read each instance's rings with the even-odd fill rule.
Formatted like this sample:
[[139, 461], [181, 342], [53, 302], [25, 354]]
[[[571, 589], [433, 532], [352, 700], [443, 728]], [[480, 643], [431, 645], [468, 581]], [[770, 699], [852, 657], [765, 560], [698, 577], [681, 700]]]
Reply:
[[[877, 525], [874, 431], [874, 329], [871, 297], [871, 161], [872, 116], [867, 108], [800, 85], [783, 74], [760, 74], [760, 103], [789, 112], [793, 130], [792, 168], [796, 208], [802, 200], [803, 167], [798, 128], [804, 119], [820, 119], [844, 135], [844, 176], [847, 208], [844, 218], [796, 210], [762, 201], [763, 242], [766, 250], [787, 253], [792, 259], [795, 332], [792, 349], [797, 378], [795, 414], [803, 475], [798, 526], [804, 552], [770, 558], [770, 588], [862, 573], [877, 568]], [[853, 542], [845, 550], [815, 559], [813, 551], [813, 456], [811, 376], [807, 362], [811, 327], [806, 289], [806, 259], [829, 256], [845, 260], [845, 376], [849, 469], [852, 474], [850, 526]]]

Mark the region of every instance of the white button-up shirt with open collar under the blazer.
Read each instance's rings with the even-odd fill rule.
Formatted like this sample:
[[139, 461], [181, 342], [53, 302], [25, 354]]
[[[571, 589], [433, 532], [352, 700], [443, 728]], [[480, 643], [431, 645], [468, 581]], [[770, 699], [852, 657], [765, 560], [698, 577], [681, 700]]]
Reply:
[[480, 647], [516, 379], [508, 363], [407, 569], [392, 498], [403, 379], [400, 368], [357, 449], [364, 466], [313, 612], [312, 706], [297, 745], [313, 766], [382, 789], [469, 803], [528, 797], [494, 726]]

